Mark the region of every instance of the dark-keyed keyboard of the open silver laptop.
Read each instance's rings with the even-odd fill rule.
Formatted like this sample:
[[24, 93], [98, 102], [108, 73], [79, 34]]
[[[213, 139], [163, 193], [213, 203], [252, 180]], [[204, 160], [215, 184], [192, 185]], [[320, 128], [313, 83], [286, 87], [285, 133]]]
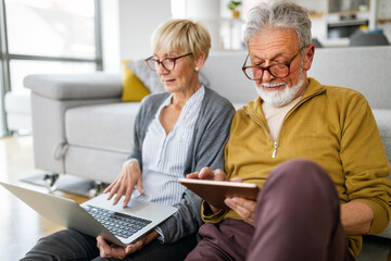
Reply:
[[128, 238], [151, 223], [149, 220], [126, 215], [90, 204], [87, 206], [86, 210], [111, 233], [123, 238]]

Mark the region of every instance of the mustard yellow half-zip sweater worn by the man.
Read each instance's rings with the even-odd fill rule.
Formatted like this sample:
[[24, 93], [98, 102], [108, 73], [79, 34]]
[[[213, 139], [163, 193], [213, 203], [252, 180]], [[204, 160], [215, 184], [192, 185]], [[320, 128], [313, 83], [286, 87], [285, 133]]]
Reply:
[[[229, 178], [241, 177], [262, 187], [276, 165], [290, 159], [313, 160], [329, 173], [341, 203], [360, 200], [371, 207], [370, 234], [383, 231], [391, 216], [390, 165], [366, 99], [355, 90], [310, 78], [301, 101], [286, 115], [277, 142], [269, 135], [261, 102], [257, 97], [234, 116], [225, 148]], [[241, 219], [234, 211], [202, 217], [212, 223]], [[351, 252], [357, 256], [362, 237], [349, 239]]]

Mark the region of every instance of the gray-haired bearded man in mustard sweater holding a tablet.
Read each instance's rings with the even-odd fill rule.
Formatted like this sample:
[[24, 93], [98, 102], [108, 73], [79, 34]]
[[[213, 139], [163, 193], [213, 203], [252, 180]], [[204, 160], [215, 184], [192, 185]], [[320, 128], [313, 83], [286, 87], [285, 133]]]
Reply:
[[[238, 110], [225, 172], [188, 178], [256, 183], [256, 201], [203, 202], [203, 239], [187, 260], [354, 260], [390, 220], [390, 165], [366, 99], [308, 78], [307, 12], [269, 1], [249, 12], [243, 72], [258, 97]], [[332, 64], [330, 64], [332, 66]], [[376, 91], [376, 86], [374, 86]]]

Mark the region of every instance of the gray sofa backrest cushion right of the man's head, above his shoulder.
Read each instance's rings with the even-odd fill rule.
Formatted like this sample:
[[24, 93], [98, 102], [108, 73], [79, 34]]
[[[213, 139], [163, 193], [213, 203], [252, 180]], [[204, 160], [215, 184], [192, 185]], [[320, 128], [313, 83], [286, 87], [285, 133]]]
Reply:
[[358, 90], [371, 108], [391, 109], [390, 57], [390, 46], [318, 48], [308, 76], [324, 85]]

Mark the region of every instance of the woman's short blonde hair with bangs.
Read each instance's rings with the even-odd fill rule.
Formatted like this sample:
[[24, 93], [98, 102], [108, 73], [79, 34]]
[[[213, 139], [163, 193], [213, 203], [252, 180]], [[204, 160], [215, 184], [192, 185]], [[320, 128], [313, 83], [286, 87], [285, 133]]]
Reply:
[[211, 49], [211, 36], [200, 23], [191, 20], [171, 20], [161, 24], [152, 34], [152, 50], [171, 52], [192, 52], [198, 58], [202, 52], [205, 60]]

